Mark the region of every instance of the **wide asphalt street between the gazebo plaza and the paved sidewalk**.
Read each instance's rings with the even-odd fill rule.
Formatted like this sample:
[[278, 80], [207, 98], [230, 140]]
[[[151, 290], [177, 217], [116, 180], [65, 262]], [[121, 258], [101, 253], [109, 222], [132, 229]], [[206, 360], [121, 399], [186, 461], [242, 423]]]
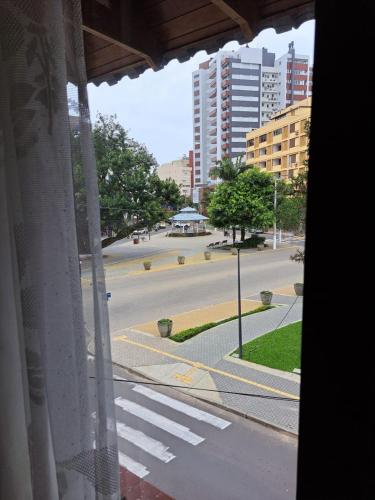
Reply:
[[[303, 268], [289, 260], [290, 248], [243, 254], [242, 297], [302, 281]], [[111, 332], [237, 298], [237, 258], [163, 272], [106, 278], [111, 292]]]

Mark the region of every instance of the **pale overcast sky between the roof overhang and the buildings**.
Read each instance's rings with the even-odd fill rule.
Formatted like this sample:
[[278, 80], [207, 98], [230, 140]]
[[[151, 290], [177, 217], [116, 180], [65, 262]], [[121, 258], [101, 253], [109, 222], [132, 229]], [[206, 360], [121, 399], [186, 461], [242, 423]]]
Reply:
[[[276, 34], [275, 30], [262, 31], [249, 47], [265, 47], [276, 57], [288, 51], [294, 41], [296, 54], [310, 56], [313, 63], [315, 21], [302, 24], [297, 30]], [[228, 42], [225, 50], [236, 50], [237, 42]], [[206, 51], [198, 52], [185, 63], [176, 59], [160, 71], [146, 70], [138, 78], [124, 77], [116, 85], [89, 84], [91, 120], [98, 112], [117, 115], [129, 136], [145, 144], [158, 164], [181, 158], [192, 149], [192, 87], [191, 74], [198, 65], [212, 57]]]

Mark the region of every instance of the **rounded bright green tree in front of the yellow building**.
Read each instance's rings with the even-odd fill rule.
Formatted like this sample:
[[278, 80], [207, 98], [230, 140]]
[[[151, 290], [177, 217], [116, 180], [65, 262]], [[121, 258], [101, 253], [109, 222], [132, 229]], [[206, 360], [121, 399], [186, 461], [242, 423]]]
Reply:
[[[217, 227], [231, 227], [233, 243], [236, 226], [241, 229], [267, 227], [273, 221], [273, 180], [266, 172], [252, 168], [235, 180], [223, 182], [211, 195], [208, 214]], [[244, 231], [241, 231], [241, 240]]]

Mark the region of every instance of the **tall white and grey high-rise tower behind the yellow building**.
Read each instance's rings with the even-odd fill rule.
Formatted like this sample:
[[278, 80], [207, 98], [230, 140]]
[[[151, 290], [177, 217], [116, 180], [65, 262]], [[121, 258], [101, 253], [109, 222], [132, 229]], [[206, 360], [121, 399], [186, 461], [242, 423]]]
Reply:
[[196, 187], [213, 182], [209, 172], [216, 161], [245, 155], [248, 131], [265, 125], [288, 101], [309, 95], [300, 94], [302, 81], [311, 92], [308, 56], [296, 55], [293, 42], [277, 60], [265, 48], [219, 51], [192, 77]]

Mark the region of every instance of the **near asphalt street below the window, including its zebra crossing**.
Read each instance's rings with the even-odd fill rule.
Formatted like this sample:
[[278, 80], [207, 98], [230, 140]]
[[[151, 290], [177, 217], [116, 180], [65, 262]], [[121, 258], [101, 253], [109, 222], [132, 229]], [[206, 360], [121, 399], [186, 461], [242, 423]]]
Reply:
[[[297, 440], [116, 370], [120, 463], [176, 500], [295, 498]], [[121, 378], [139, 380], [127, 383]]]

